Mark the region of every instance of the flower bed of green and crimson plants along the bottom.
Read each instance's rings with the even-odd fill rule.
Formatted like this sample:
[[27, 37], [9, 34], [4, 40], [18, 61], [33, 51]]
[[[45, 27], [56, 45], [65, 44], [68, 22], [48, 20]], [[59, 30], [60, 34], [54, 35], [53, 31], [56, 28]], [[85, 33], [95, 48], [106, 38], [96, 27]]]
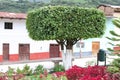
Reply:
[[40, 65], [36, 67], [35, 71], [26, 65], [21, 70], [23, 72], [19, 69], [15, 72], [13, 68], [9, 67], [6, 73], [0, 73], [0, 80], [120, 80], [119, 72], [110, 73], [107, 68], [106, 66], [97, 65], [83, 68], [75, 65], [66, 71], [48, 73]]

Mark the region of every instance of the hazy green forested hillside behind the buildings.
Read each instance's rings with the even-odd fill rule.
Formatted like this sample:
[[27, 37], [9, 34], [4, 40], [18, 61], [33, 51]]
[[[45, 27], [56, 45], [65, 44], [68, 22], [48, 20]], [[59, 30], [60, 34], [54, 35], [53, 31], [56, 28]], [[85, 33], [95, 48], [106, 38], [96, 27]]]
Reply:
[[0, 0], [0, 11], [28, 12], [31, 9], [48, 5], [69, 5], [79, 7], [97, 7], [100, 4], [120, 4], [120, 0]]

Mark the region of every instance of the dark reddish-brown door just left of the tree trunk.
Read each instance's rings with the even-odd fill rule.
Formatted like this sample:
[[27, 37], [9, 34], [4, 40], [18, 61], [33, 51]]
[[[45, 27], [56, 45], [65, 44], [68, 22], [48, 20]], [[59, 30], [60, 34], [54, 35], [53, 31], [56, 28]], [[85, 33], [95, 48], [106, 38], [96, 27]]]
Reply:
[[50, 44], [50, 58], [60, 57], [59, 45]]

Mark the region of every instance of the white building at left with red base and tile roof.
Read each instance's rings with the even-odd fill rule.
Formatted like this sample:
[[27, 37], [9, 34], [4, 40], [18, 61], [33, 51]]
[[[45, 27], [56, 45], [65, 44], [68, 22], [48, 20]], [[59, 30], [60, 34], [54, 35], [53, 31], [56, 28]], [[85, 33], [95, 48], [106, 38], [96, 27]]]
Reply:
[[0, 61], [49, 58], [50, 44], [56, 44], [56, 41], [34, 41], [29, 38], [26, 14], [0, 12]]

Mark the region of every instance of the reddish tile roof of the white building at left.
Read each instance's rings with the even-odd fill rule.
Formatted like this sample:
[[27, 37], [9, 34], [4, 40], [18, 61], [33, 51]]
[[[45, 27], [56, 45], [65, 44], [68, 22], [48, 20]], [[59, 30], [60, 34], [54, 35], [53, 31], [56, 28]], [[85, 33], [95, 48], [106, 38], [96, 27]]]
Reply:
[[25, 13], [9, 13], [9, 12], [0, 12], [0, 18], [5, 19], [26, 19], [27, 14]]

